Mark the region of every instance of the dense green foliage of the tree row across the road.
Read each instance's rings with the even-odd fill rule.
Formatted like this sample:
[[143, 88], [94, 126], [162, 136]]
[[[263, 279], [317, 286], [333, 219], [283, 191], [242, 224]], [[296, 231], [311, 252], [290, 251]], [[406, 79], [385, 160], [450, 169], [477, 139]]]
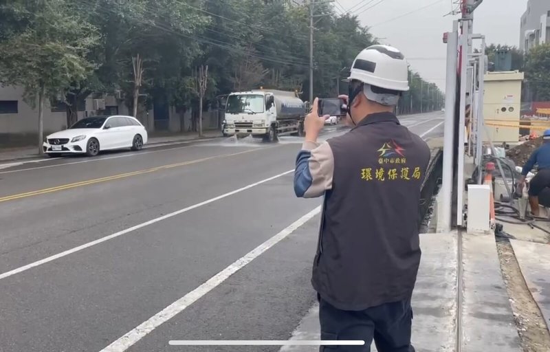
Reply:
[[[347, 92], [353, 58], [376, 39], [330, 3], [314, 8], [314, 95]], [[144, 60], [146, 102], [197, 106], [195, 69], [208, 65], [207, 104], [234, 89], [297, 89], [309, 96], [309, 8], [286, 0], [0, 0], [0, 82], [29, 96], [43, 84], [65, 93], [68, 120], [91, 92], [122, 91], [131, 104], [131, 58]], [[442, 102], [441, 92], [411, 76], [400, 111]], [[423, 91], [421, 91], [423, 87]], [[428, 87], [432, 93], [428, 95]], [[437, 92], [434, 93], [434, 92]], [[409, 100], [407, 100], [407, 98]], [[413, 109], [410, 107], [413, 101]], [[406, 104], [408, 102], [408, 104]], [[431, 105], [430, 105], [431, 106]]]

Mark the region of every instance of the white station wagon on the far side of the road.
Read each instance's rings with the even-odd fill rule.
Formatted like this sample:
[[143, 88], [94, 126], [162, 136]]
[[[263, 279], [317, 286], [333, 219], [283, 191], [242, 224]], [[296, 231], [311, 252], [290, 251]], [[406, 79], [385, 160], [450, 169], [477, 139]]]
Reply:
[[63, 154], [96, 156], [100, 151], [131, 148], [139, 151], [147, 143], [145, 127], [131, 116], [92, 116], [52, 133], [43, 144], [50, 157]]

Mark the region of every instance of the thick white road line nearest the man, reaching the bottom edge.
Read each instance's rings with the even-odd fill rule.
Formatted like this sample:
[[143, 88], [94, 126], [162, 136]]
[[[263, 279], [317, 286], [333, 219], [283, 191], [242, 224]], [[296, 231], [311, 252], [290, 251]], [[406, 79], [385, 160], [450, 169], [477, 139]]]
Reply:
[[181, 311], [192, 305], [192, 303], [195, 303], [201, 297], [208, 294], [208, 292], [212, 291], [212, 289], [223, 283], [223, 281], [227, 280], [230, 276], [232, 276], [232, 274], [241, 270], [245, 265], [263, 254], [263, 252], [269, 250], [278, 242], [285, 239], [285, 237], [287, 237], [289, 234], [292, 234], [292, 232], [300, 228], [300, 226], [319, 214], [320, 210], [320, 206], [318, 206], [314, 210], [311, 210], [311, 212], [308, 212], [303, 217], [296, 220], [294, 223], [273, 236], [271, 239], [268, 239], [258, 247], [254, 248], [254, 250], [248, 252], [248, 254], [245, 254], [245, 256], [243, 256], [241, 259], [237, 259], [234, 263], [226, 267], [224, 270], [209, 278], [206, 283], [203, 283], [185, 296], [179, 298], [179, 300], [176, 300], [168, 307], [162, 309], [162, 311], [159, 311], [148, 320], [142, 322], [142, 324], [135, 327], [135, 329], [132, 329], [112, 344], [109, 344], [109, 346], [105, 347], [100, 352], [126, 351], [127, 349], [132, 347], [133, 344], [135, 344], [137, 341], [141, 340], [148, 333], [151, 333], [151, 331], [159, 327], [159, 325], [162, 325], [164, 322], [167, 322], [177, 314], [181, 313]]

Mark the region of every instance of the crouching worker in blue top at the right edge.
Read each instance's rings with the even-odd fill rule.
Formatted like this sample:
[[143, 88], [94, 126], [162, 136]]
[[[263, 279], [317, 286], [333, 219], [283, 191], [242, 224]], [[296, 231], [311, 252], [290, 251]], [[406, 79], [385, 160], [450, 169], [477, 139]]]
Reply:
[[[533, 170], [535, 165], [538, 172], [529, 182], [529, 206], [531, 207], [531, 216], [540, 217], [539, 196], [546, 188], [550, 187], [550, 129], [544, 131], [542, 135], [542, 146], [531, 153], [529, 159], [522, 168], [521, 179], [518, 189], [523, 190], [527, 174]], [[547, 197], [546, 197], [547, 198]], [[547, 203], [548, 201], [545, 201]], [[544, 204], [546, 205], [546, 204]]]

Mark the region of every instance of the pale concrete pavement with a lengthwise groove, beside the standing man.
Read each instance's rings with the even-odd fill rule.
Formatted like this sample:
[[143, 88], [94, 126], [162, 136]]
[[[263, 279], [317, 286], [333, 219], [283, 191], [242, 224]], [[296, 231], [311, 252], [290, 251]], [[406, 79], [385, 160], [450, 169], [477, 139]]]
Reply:
[[[416, 350], [456, 351], [460, 331], [463, 351], [520, 352], [494, 236], [463, 236], [460, 296], [457, 234], [421, 234], [420, 239], [423, 254], [412, 297], [412, 342]], [[461, 322], [460, 330], [457, 321]], [[317, 305], [290, 340], [320, 340]], [[318, 347], [283, 347], [281, 351], [314, 352]], [[371, 351], [376, 351], [374, 344]]]

